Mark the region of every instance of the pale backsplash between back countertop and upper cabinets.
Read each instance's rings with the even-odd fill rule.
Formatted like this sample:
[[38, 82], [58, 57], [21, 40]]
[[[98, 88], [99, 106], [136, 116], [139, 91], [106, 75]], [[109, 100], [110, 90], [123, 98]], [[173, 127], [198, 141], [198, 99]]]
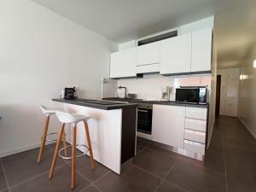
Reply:
[[143, 79], [120, 79], [118, 86], [127, 87], [128, 93], [136, 93], [138, 98], [148, 100], [159, 100], [161, 97], [161, 86], [172, 86], [172, 100], [174, 100], [175, 89], [179, 86], [208, 86], [211, 87], [211, 75], [200, 75], [194, 77], [153, 77]]

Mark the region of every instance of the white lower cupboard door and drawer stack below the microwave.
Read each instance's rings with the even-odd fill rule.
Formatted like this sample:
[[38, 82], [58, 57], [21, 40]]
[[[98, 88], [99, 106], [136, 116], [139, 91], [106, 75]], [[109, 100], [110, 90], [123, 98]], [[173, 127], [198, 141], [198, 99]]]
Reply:
[[154, 142], [204, 155], [206, 131], [207, 108], [153, 105]]

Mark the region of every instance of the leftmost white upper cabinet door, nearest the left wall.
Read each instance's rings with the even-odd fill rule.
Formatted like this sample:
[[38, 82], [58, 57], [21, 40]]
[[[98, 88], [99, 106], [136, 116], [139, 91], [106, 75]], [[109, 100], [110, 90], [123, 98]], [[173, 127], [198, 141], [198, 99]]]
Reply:
[[137, 49], [125, 49], [111, 54], [110, 78], [135, 77]]

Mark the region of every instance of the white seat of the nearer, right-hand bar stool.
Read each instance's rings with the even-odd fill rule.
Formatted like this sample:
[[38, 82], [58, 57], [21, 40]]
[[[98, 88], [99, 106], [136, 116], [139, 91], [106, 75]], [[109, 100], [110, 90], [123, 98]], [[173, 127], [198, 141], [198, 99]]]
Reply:
[[61, 111], [56, 111], [57, 118], [61, 121], [61, 123], [64, 124], [77, 124], [79, 121], [87, 122], [90, 117], [81, 115], [81, 114], [72, 114], [72, 113], [66, 113]]

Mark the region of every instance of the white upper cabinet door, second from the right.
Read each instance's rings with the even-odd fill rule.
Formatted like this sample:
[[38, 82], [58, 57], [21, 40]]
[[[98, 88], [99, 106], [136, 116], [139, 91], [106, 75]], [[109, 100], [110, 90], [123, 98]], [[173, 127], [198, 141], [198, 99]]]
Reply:
[[160, 43], [160, 74], [190, 73], [191, 33]]

